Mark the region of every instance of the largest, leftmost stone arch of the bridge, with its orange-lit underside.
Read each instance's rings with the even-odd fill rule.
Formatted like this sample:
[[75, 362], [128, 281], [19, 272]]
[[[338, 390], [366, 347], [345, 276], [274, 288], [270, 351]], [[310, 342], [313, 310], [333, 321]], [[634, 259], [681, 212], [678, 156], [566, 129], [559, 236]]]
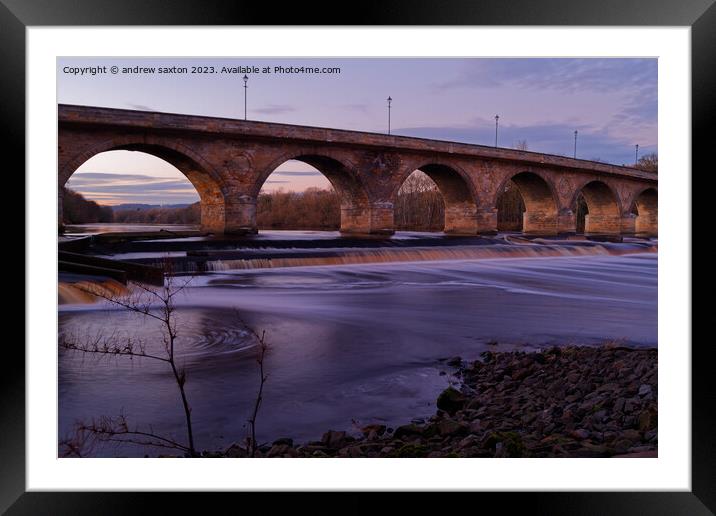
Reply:
[[[126, 150], [150, 154], [166, 161], [179, 170], [199, 194], [201, 227], [206, 232], [222, 233], [225, 228], [226, 210], [223, 182], [219, 174], [203, 158], [176, 141], [161, 141], [142, 135], [125, 136], [106, 140], [70, 158], [59, 170], [59, 190], [72, 174], [87, 160], [103, 152]], [[60, 195], [59, 217], [62, 220]]]

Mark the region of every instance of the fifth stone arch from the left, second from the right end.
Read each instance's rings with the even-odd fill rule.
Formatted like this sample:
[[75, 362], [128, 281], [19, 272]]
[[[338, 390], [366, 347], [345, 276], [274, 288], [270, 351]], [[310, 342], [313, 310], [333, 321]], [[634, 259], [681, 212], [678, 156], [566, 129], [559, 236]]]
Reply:
[[[607, 183], [599, 180], [590, 180], [577, 188], [572, 198], [571, 206], [579, 218], [578, 203], [580, 196], [584, 200], [586, 213], [584, 214], [585, 234], [615, 235], [621, 231], [621, 203], [619, 195]], [[577, 220], [577, 227], [581, 222]]]

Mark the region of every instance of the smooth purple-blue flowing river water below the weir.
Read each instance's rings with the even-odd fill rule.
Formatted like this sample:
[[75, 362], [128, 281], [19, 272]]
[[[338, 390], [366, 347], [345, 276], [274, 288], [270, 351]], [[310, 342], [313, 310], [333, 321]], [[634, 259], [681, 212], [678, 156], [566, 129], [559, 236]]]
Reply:
[[[246, 436], [259, 376], [255, 342], [239, 318], [265, 329], [270, 344], [261, 441], [316, 440], [328, 429], [427, 417], [451, 381], [448, 357], [605, 340], [657, 344], [654, 242], [561, 253], [554, 244], [530, 244], [540, 245], [527, 254], [516, 245], [514, 255], [503, 250], [470, 259], [465, 250], [422, 256], [413, 250], [406, 260], [414, 261], [248, 267], [214, 260], [220, 265], [213, 272], [194, 277], [177, 296], [179, 360], [187, 369], [197, 446], [224, 448]], [[141, 338], [152, 349], [161, 342], [154, 322], [102, 303], [60, 306], [60, 331], [85, 339], [112, 333]], [[60, 350], [60, 435], [76, 420], [120, 413], [130, 426], [184, 440], [166, 364]], [[161, 450], [113, 445], [95, 453]]]

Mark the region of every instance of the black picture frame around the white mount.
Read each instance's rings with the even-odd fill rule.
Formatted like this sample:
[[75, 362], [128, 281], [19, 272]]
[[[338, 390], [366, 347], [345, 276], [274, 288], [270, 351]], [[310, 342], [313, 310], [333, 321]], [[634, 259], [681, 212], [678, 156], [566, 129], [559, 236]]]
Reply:
[[[392, 0], [346, 5], [313, 2], [222, 0], [0, 0], [0, 131], [9, 171], [25, 170], [25, 31], [31, 26], [53, 25], [612, 25], [689, 26], [692, 50], [692, 156], [693, 168], [713, 169], [711, 148], [716, 113], [716, 5], [714, 0]], [[7, 158], [12, 157], [8, 163]], [[711, 160], [709, 161], [709, 158]], [[690, 180], [684, 171], [684, 180]], [[21, 174], [14, 172], [23, 191]], [[684, 207], [691, 210], [691, 206]], [[25, 235], [26, 236], [26, 235]], [[15, 246], [20, 246], [15, 243]], [[17, 266], [17, 258], [15, 258]], [[26, 278], [32, 271], [25, 270]], [[19, 303], [18, 303], [19, 304]], [[24, 304], [23, 304], [24, 306]], [[28, 307], [31, 309], [31, 307]], [[8, 324], [8, 323], [6, 323]], [[124, 514], [191, 510], [195, 503], [185, 493], [48, 493], [25, 489], [25, 352], [6, 339], [0, 374], [0, 511], [20, 514]], [[668, 343], [685, 345], [690, 343]], [[470, 494], [476, 510], [498, 504], [503, 510], [522, 508], [537, 514], [713, 514], [716, 512], [716, 425], [713, 408], [712, 344], [692, 347], [692, 490], [690, 492], [610, 493], [484, 493]], [[9, 364], [12, 364], [10, 366]], [[226, 498], [233, 495], [222, 495]], [[270, 502], [253, 497], [260, 504]], [[375, 508], [375, 494], [352, 494], [355, 502], [330, 512], [365, 512]], [[478, 500], [475, 501], [474, 497]], [[212, 497], [213, 498], [213, 497]], [[305, 496], [292, 496], [292, 510], [303, 503], [319, 512]], [[407, 498], [407, 497], [405, 497]], [[457, 496], [455, 501], [464, 501]], [[213, 501], [213, 500], [212, 500]], [[226, 501], [226, 500], [225, 500]], [[243, 505], [247, 503], [247, 505]], [[242, 502], [238, 510], [248, 509]], [[298, 505], [295, 505], [298, 503]], [[425, 508], [422, 496], [401, 502], [404, 511]], [[402, 511], [401, 511], [402, 512]]]

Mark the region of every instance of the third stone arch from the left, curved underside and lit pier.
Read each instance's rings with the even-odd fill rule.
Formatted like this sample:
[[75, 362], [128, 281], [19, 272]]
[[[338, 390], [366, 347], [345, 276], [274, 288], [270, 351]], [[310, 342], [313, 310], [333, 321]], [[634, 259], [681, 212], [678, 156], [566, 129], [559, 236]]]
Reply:
[[416, 170], [427, 175], [442, 195], [443, 231], [456, 235], [476, 234], [477, 195], [470, 176], [458, 165], [435, 159], [412, 162], [397, 179], [392, 199], [397, 199], [400, 188]]

